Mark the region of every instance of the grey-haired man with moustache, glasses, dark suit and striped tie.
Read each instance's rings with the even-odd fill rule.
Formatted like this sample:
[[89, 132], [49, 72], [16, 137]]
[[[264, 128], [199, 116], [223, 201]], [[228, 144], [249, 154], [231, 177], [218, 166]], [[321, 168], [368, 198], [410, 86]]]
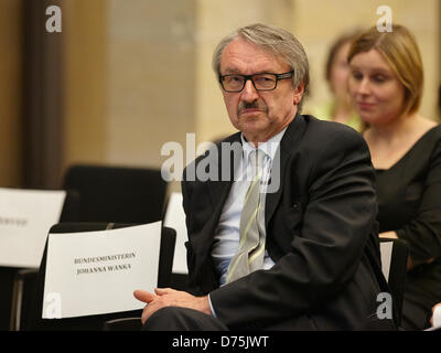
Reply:
[[184, 172], [191, 293], [137, 290], [144, 328], [395, 329], [377, 314], [387, 284], [369, 151], [351, 128], [300, 115], [302, 45], [254, 24], [218, 44], [213, 66], [239, 132]]

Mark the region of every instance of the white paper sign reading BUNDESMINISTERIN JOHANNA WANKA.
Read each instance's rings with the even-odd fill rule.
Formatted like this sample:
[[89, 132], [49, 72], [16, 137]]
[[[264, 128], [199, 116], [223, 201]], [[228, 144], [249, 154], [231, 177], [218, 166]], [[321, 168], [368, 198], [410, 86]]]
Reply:
[[137, 310], [135, 289], [158, 286], [161, 222], [50, 234], [43, 319]]

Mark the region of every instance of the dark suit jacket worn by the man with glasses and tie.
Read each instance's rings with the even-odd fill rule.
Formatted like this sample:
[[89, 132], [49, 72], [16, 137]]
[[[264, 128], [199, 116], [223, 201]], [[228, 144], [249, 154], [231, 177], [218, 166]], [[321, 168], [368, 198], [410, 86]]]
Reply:
[[[224, 141], [240, 141], [240, 135]], [[377, 293], [388, 289], [364, 139], [342, 124], [298, 114], [278, 153], [280, 188], [266, 200], [266, 248], [276, 265], [220, 288], [211, 248], [233, 181], [185, 181], [187, 165], [182, 192], [191, 291], [209, 293], [230, 329], [394, 329], [392, 320], [376, 315]], [[194, 165], [216, 167], [220, 175], [214, 159], [222, 160], [219, 146]]]

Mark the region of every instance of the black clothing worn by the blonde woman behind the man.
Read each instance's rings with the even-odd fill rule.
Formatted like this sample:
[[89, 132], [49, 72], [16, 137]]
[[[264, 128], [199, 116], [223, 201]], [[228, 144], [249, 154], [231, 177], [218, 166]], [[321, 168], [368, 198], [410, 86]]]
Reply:
[[422, 329], [441, 301], [441, 126], [376, 172], [379, 232], [395, 231], [408, 243], [412, 261], [422, 264], [408, 271], [402, 318], [405, 329]]

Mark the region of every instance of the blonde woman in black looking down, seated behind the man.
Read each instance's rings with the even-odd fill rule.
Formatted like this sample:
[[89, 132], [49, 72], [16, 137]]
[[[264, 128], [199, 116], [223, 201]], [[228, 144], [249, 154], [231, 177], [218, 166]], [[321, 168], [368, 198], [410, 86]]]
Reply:
[[374, 26], [349, 54], [349, 94], [367, 129], [377, 173], [379, 236], [410, 248], [402, 327], [430, 325], [441, 301], [441, 127], [422, 117], [423, 71], [418, 45], [401, 25]]

